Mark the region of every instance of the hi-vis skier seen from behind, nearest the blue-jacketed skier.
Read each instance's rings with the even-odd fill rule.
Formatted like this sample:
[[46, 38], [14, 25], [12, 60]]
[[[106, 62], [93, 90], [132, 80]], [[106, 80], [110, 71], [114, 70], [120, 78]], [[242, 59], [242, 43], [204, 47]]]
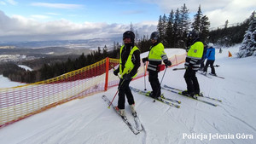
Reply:
[[190, 46], [190, 48], [186, 57], [186, 71], [183, 76], [187, 84], [187, 90], [184, 90], [182, 94], [191, 96], [196, 99], [196, 95], [200, 94], [200, 88], [195, 73], [200, 68], [204, 44], [201, 42], [199, 38], [199, 32], [196, 30], [189, 32], [188, 41], [188, 46]]

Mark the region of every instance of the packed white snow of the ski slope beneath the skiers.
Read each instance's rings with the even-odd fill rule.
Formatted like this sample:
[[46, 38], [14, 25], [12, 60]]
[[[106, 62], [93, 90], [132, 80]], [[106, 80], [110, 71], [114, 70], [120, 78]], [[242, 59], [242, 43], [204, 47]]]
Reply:
[[[180, 108], [170, 107], [160, 101], [139, 95], [132, 91], [139, 118], [144, 130], [134, 135], [119, 115], [108, 109], [102, 95], [112, 100], [117, 87], [106, 92], [90, 95], [83, 99], [69, 101], [60, 106], [33, 115], [0, 129], [1, 144], [172, 144], [172, 143], [213, 143], [213, 144], [254, 144], [256, 136], [256, 57], [236, 58], [239, 45], [216, 49], [216, 73], [222, 78], [207, 78], [197, 74], [201, 92], [222, 102], [207, 100], [217, 104], [212, 107], [162, 89], [169, 98], [182, 101]], [[233, 57], [228, 57], [228, 53]], [[166, 49], [168, 56], [183, 50]], [[147, 53], [142, 54], [142, 58]], [[162, 85], [186, 89], [184, 70], [166, 70]], [[211, 69], [208, 68], [208, 72]], [[159, 73], [161, 79], [164, 71]], [[1, 84], [2, 84], [2, 79]], [[7, 82], [4, 82], [7, 83]], [[144, 78], [130, 84], [144, 89]], [[12, 85], [10, 85], [12, 86]], [[151, 90], [146, 77], [146, 88]], [[113, 104], [117, 105], [118, 96]], [[125, 112], [134, 124], [130, 107], [126, 101]]]

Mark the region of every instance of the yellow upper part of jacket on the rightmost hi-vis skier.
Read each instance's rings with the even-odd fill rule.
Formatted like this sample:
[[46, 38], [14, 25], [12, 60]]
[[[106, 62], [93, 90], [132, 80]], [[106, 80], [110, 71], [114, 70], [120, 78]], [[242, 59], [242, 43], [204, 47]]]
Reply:
[[204, 44], [201, 42], [196, 42], [193, 45], [191, 45], [187, 57], [200, 60], [201, 56], [203, 55], [203, 52]]

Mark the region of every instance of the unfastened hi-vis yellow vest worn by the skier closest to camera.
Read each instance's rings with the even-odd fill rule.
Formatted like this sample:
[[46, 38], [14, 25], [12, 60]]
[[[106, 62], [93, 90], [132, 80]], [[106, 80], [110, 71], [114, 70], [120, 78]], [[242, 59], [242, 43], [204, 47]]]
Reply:
[[[119, 75], [121, 76], [120, 78], [123, 78], [123, 75], [125, 75], [127, 73], [131, 73], [132, 78], [135, 78], [137, 76], [137, 69], [136, 70], [134, 69], [134, 67], [135, 67], [134, 62], [133, 62], [134, 57], [132, 57], [132, 56], [133, 56], [133, 53], [139, 49], [137, 48], [137, 46], [134, 46], [131, 49], [131, 52], [130, 52], [125, 64], [123, 64], [122, 63], [122, 51], [123, 51], [124, 47], [125, 47], [125, 45], [123, 45], [121, 47], [120, 56], [119, 56]], [[140, 59], [138, 61], [140, 61]], [[136, 68], [138, 68], [138, 67], [139, 66], [136, 66]]]

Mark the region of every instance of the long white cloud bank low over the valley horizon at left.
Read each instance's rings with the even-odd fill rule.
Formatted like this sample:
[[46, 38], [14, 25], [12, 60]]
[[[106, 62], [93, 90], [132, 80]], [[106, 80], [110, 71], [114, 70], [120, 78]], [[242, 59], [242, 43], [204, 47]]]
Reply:
[[[35, 40], [66, 40], [90, 39], [97, 37], [121, 37], [130, 25], [84, 22], [73, 23], [69, 20], [40, 22], [35, 18], [47, 18], [44, 15], [32, 15], [29, 19], [20, 15], [7, 16], [0, 10], [1, 41], [35, 41]], [[1, 22], [2, 21], [2, 22]], [[3, 22], [4, 21], [4, 22]], [[134, 24], [139, 33], [148, 34], [156, 29], [148, 22]]]

